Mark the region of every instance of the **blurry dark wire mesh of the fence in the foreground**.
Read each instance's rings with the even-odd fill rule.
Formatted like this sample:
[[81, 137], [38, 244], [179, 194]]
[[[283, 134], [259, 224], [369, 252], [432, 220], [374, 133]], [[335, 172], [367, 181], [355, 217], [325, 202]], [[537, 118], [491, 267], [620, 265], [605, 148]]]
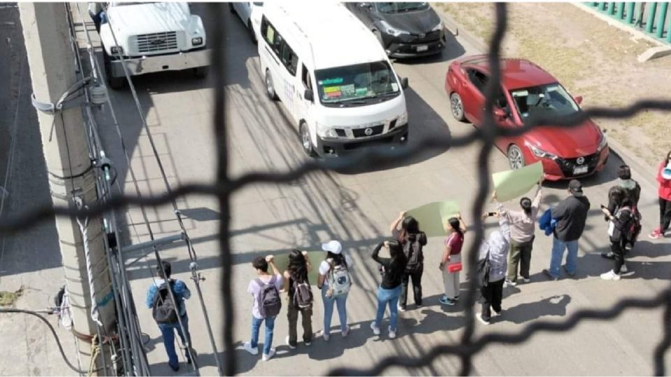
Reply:
[[[582, 124], [591, 117], [601, 117], [609, 119], [623, 119], [631, 117], [643, 110], [671, 110], [671, 101], [657, 101], [653, 99], [636, 101], [626, 108], [590, 108], [581, 110], [575, 114], [564, 117], [547, 117], [546, 115], [532, 114], [524, 126], [517, 128], [503, 128], [496, 124], [493, 119], [493, 102], [496, 98], [496, 91], [500, 87], [500, 47], [506, 30], [506, 4], [496, 3], [496, 29], [491, 37], [489, 45], [489, 66], [491, 67], [491, 79], [485, 88], [485, 108], [484, 121], [482, 127], [474, 128], [466, 135], [452, 138], [449, 136], [421, 136], [415, 145], [407, 146], [402, 149], [380, 149], [370, 148], [354, 151], [351, 155], [338, 159], [308, 160], [304, 161], [296, 168], [287, 172], [245, 172], [236, 178], [229, 176], [229, 154], [228, 142], [226, 140], [226, 121], [225, 121], [225, 97], [224, 88], [226, 85], [226, 60], [224, 50], [224, 3], [209, 3], [208, 17], [214, 25], [210, 40], [212, 41], [212, 73], [215, 82], [215, 113], [213, 117], [213, 126], [215, 128], [217, 142], [217, 180], [214, 184], [184, 184], [169, 193], [162, 195], [140, 196], [138, 195], [117, 195], [107, 202], [96, 203], [87, 209], [78, 209], [71, 205], [70, 207], [43, 207], [20, 214], [13, 214], [5, 221], [0, 222], [0, 235], [8, 235], [12, 232], [20, 232], [40, 221], [47, 221], [54, 216], [97, 216], [115, 209], [124, 209], [131, 205], [159, 206], [170, 203], [172, 200], [184, 195], [208, 195], [215, 196], [219, 200], [219, 210], [221, 219], [219, 223], [219, 242], [221, 247], [222, 262], [222, 297], [224, 314], [224, 360], [226, 363], [224, 373], [226, 375], [236, 374], [236, 357], [233, 347], [233, 329], [235, 318], [233, 315], [233, 298], [231, 292], [232, 280], [232, 258], [229, 242], [229, 224], [231, 219], [231, 195], [249, 184], [271, 183], [271, 184], [290, 184], [317, 171], [347, 171], [355, 168], [371, 167], [389, 163], [389, 161], [406, 161], [414, 154], [426, 152], [434, 149], [459, 148], [465, 147], [475, 142], [482, 145], [478, 157], [478, 190], [475, 202], [472, 206], [471, 216], [475, 219], [475, 242], [470, 251], [468, 251], [468, 266], [470, 271], [475, 271], [477, 263], [477, 251], [479, 244], [484, 236], [484, 227], [480, 215], [483, 212], [486, 195], [489, 192], [490, 167], [488, 156], [493, 149], [493, 142], [496, 138], [511, 137], [521, 135], [531, 130], [531, 128], [544, 126], [564, 126], [572, 127]], [[468, 375], [472, 372], [472, 357], [479, 353], [485, 346], [493, 343], [517, 344], [527, 341], [537, 332], [564, 332], [571, 330], [578, 323], [588, 319], [610, 320], [619, 316], [624, 310], [630, 308], [654, 309], [659, 306], [665, 306], [663, 313], [662, 327], [663, 337], [655, 348], [653, 355], [654, 374], [661, 376], [665, 374], [664, 355], [671, 345], [671, 287], [666, 288], [654, 297], [650, 298], [625, 298], [617, 302], [610, 309], [582, 309], [576, 311], [563, 322], [550, 322], [536, 320], [523, 327], [517, 334], [503, 334], [498, 332], [489, 332], [482, 337], [474, 337], [474, 316], [472, 315], [473, 305], [475, 304], [477, 283], [475, 279], [469, 279], [468, 291], [465, 296], [466, 304], [466, 330], [463, 332], [461, 341], [457, 344], [444, 343], [434, 346], [425, 355], [421, 357], [400, 357], [390, 356], [380, 360], [370, 369], [350, 369], [337, 368], [329, 372], [329, 375], [377, 375], [382, 374], [389, 367], [426, 367], [431, 365], [436, 357], [443, 355], [456, 355], [461, 360], [461, 375]]]

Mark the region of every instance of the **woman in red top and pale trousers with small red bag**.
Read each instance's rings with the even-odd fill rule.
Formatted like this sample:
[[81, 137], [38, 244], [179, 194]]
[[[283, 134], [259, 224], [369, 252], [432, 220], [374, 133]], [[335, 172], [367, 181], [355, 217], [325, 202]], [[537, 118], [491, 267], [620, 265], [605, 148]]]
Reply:
[[445, 305], [454, 305], [459, 300], [459, 271], [461, 271], [461, 248], [463, 247], [463, 235], [466, 233], [466, 223], [461, 219], [461, 214], [447, 220], [445, 226], [447, 237], [445, 238], [445, 249], [438, 268], [442, 272], [442, 283], [445, 285], [445, 295], [438, 301]]

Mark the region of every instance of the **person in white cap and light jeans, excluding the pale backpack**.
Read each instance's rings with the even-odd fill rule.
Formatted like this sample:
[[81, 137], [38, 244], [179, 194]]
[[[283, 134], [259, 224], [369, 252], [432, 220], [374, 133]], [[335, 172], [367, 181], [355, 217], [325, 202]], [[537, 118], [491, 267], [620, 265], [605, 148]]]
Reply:
[[331, 338], [331, 318], [333, 318], [333, 306], [338, 305], [338, 318], [340, 318], [340, 334], [347, 337], [349, 326], [347, 325], [347, 295], [336, 295], [329, 297], [329, 276], [333, 274], [336, 266], [343, 265], [349, 270], [352, 267], [352, 258], [342, 254], [342, 245], [338, 241], [329, 241], [322, 244], [322, 250], [326, 251], [326, 259], [319, 265], [319, 279], [317, 288], [322, 290], [322, 301], [324, 302], [324, 330], [322, 338], [328, 341]]

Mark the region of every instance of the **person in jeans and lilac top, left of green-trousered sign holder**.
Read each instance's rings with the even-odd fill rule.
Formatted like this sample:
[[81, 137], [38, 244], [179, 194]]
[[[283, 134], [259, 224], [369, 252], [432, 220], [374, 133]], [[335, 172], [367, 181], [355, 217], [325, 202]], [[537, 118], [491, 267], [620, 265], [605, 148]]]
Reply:
[[[273, 274], [268, 274], [268, 265], [273, 267]], [[275, 262], [273, 262], [273, 256], [254, 258], [252, 267], [256, 270], [258, 277], [257, 279], [252, 279], [250, 285], [247, 287], [247, 293], [250, 293], [253, 297], [252, 339], [245, 342], [245, 350], [252, 355], [259, 354], [259, 329], [261, 329], [261, 324], [265, 323], [266, 338], [264, 340], [264, 355], [262, 360], [268, 361], [275, 355], [275, 349], [272, 346], [276, 316], [266, 316], [265, 313], [261, 313], [261, 308], [259, 307], [261, 305], [261, 290], [263, 288], [261, 284], [273, 284], [279, 292], [282, 288], [282, 274], [280, 274]]]

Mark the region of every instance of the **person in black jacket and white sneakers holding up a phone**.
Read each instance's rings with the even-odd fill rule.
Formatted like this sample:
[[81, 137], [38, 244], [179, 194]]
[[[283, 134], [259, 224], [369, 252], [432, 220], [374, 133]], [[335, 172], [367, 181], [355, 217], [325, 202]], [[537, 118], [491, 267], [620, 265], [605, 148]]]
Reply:
[[628, 240], [627, 228], [631, 220], [633, 202], [630, 200], [625, 189], [621, 187], [614, 187], [610, 191], [609, 199], [615, 203], [616, 209], [614, 212], [611, 212], [608, 208], [602, 208], [601, 211], [609, 220], [608, 235], [610, 236], [610, 249], [614, 256], [615, 265], [609, 272], [601, 274], [601, 279], [619, 280], [620, 272], [626, 272], [624, 252]]

